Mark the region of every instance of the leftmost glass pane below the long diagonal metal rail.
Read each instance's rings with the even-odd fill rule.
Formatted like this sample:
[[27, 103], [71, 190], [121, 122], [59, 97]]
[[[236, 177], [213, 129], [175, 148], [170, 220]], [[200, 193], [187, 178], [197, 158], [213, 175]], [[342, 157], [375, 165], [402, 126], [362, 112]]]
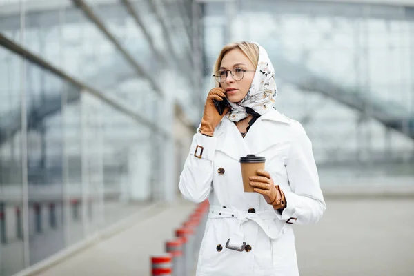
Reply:
[[24, 268], [21, 63], [0, 47], [0, 276]]

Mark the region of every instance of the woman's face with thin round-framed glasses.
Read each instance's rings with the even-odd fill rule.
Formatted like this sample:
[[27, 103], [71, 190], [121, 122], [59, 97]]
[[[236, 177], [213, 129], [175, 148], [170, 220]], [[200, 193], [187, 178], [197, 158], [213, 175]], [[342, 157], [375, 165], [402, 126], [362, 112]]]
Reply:
[[220, 86], [226, 90], [228, 101], [238, 103], [246, 97], [250, 85], [252, 84], [253, 77], [255, 77], [256, 68], [253, 66], [250, 59], [244, 55], [242, 50], [238, 48], [230, 50], [224, 55], [219, 70], [233, 70], [234, 68], [252, 71], [244, 72], [243, 79], [239, 81], [235, 81], [230, 72], [228, 72], [226, 81], [220, 83]]

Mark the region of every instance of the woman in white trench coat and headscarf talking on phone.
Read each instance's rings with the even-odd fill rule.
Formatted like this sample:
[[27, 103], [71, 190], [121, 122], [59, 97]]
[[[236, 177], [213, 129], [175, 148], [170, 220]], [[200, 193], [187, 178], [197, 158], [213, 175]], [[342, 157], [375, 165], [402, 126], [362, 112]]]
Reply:
[[[225, 46], [213, 68], [201, 126], [193, 137], [179, 190], [210, 210], [197, 276], [299, 275], [293, 224], [316, 223], [326, 204], [311, 141], [281, 115], [275, 70], [257, 43]], [[228, 101], [222, 115], [215, 101]], [[244, 193], [240, 157], [266, 157]]]

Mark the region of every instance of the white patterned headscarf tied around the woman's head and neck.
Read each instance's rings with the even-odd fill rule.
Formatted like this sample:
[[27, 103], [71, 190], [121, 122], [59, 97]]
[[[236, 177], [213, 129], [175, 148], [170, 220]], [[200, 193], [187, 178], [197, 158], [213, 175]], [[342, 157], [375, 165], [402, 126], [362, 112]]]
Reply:
[[259, 60], [253, 77], [250, 89], [247, 92], [246, 97], [239, 103], [230, 103], [230, 112], [226, 115], [230, 121], [240, 121], [248, 117], [247, 108], [253, 109], [256, 113], [263, 115], [270, 111], [277, 98], [277, 87], [275, 83], [275, 69], [268, 57], [266, 50], [258, 43], [255, 43], [259, 47]]

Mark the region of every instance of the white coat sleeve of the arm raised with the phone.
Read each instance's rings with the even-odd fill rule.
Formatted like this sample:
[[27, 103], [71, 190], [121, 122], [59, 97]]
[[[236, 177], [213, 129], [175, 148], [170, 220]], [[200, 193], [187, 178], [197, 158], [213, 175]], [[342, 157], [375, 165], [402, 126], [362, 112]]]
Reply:
[[[208, 137], [199, 132], [194, 135], [178, 184], [181, 194], [186, 199], [199, 203], [210, 195], [213, 189], [213, 158], [216, 144], [217, 137]], [[196, 155], [201, 155], [201, 158]]]

